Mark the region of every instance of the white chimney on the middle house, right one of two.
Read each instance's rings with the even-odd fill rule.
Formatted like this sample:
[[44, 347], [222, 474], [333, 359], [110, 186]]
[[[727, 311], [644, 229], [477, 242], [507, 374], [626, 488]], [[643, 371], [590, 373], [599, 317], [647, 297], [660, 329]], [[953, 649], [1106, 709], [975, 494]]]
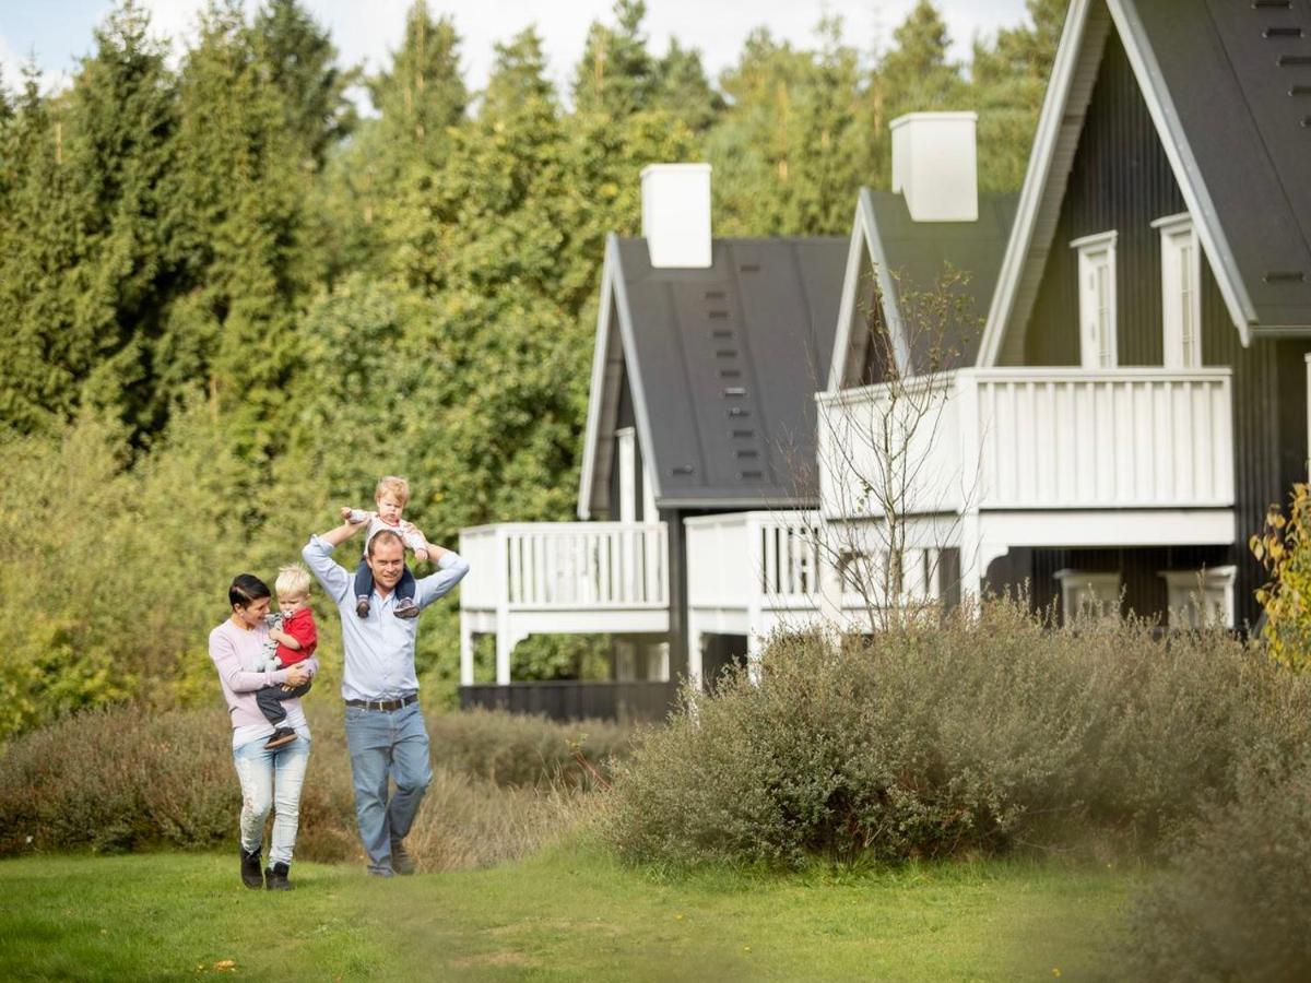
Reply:
[[907, 113], [891, 122], [893, 191], [915, 222], [978, 222], [977, 113]]

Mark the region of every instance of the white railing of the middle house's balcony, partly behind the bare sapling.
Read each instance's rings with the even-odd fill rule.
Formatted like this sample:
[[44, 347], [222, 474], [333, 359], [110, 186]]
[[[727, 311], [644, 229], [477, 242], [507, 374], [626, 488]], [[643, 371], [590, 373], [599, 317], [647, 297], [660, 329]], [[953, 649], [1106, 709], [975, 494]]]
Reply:
[[690, 607], [813, 607], [819, 594], [815, 512], [732, 512], [684, 519]]

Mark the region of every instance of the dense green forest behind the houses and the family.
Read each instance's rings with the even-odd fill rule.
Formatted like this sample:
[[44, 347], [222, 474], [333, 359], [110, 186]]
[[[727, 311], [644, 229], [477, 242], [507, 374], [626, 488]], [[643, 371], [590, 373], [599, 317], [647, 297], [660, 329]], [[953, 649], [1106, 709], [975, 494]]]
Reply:
[[[1015, 189], [1065, 0], [1028, 7], [968, 63], [920, 0], [881, 51], [832, 18], [809, 47], [756, 29], [709, 79], [617, 0], [568, 92], [534, 29], [476, 92], [423, 0], [376, 75], [298, 0], [211, 0], [180, 60], [125, 3], [66, 90], [26, 67], [0, 89], [0, 738], [212, 697], [227, 582], [379, 474], [439, 543], [570, 518], [602, 245], [638, 231], [642, 165], [709, 161], [717, 235], [846, 235], [888, 121], [974, 109], [982, 187]], [[448, 680], [452, 608], [429, 617]]]

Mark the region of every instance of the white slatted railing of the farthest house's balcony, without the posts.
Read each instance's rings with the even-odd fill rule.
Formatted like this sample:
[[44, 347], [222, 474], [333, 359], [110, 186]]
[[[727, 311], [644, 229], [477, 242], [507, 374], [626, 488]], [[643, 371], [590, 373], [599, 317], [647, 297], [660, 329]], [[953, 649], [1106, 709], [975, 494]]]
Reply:
[[460, 531], [463, 608], [565, 611], [669, 606], [665, 523], [498, 523]]

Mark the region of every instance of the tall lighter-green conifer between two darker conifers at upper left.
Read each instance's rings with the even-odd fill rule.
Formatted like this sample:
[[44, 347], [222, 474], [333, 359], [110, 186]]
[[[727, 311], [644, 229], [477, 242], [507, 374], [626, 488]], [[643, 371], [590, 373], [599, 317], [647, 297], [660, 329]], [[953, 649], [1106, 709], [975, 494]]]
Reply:
[[177, 142], [195, 287], [170, 311], [160, 379], [177, 398], [203, 387], [248, 460], [278, 443], [304, 283], [307, 176], [260, 68], [237, 0], [212, 0], [182, 67]]

